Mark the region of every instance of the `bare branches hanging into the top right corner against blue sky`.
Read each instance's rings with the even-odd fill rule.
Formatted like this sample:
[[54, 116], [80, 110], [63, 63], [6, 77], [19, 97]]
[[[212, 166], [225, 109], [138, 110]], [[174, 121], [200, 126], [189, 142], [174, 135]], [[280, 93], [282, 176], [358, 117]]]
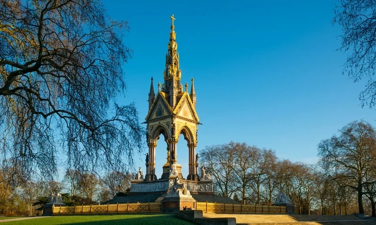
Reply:
[[355, 82], [367, 79], [365, 90], [359, 94], [362, 106], [376, 104], [376, 2], [374, 0], [339, 0], [335, 6], [333, 23], [342, 27], [340, 51], [350, 52], [343, 73]]

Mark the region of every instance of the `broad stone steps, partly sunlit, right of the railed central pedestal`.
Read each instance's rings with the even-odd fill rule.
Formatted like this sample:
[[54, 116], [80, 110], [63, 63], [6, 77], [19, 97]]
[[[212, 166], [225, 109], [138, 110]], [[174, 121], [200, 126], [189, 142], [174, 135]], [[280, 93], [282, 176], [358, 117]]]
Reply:
[[376, 225], [376, 220], [364, 220], [355, 215], [277, 215], [277, 214], [217, 214], [204, 217], [235, 217], [237, 224], [252, 225]]

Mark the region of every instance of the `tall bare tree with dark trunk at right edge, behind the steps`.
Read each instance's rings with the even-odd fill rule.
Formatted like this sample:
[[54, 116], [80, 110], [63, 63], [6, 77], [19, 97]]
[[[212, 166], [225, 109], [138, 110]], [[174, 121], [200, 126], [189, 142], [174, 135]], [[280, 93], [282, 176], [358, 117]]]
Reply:
[[338, 136], [333, 135], [318, 144], [320, 164], [331, 177], [357, 191], [359, 213], [364, 213], [364, 174], [376, 160], [371, 156], [376, 150], [376, 133], [365, 121], [350, 122], [339, 132]]

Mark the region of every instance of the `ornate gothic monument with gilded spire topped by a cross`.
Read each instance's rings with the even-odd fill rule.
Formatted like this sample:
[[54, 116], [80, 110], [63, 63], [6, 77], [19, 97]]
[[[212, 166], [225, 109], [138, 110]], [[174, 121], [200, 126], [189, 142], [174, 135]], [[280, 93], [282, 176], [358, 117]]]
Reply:
[[[191, 194], [213, 195], [213, 181], [209, 173], [198, 175], [198, 158], [196, 154], [197, 130], [199, 117], [196, 112], [196, 93], [192, 78], [191, 91], [188, 92], [188, 83], [185, 89], [180, 83], [181, 70], [179, 69], [179, 54], [177, 53], [176, 33], [171, 15], [171, 31], [167, 44], [166, 63], [163, 71], [164, 82], [158, 83], [158, 91], [154, 93], [153, 77], [151, 77], [149, 91], [149, 111], [145, 118], [147, 124], [146, 138], [149, 147], [146, 153], [146, 172], [139, 169], [131, 181], [131, 194], [167, 193], [168, 196], [190, 197]], [[155, 174], [155, 147], [159, 135], [162, 134], [166, 142], [166, 163], [162, 165], [161, 177]], [[183, 134], [187, 141], [187, 149], [176, 149], [179, 135]], [[184, 140], [180, 140], [184, 141]], [[189, 174], [184, 178], [181, 174], [181, 165], [177, 162], [177, 154], [187, 150], [189, 152]], [[184, 165], [183, 165], [184, 166]], [[201, 171], [205, 171], [202, 168]]]

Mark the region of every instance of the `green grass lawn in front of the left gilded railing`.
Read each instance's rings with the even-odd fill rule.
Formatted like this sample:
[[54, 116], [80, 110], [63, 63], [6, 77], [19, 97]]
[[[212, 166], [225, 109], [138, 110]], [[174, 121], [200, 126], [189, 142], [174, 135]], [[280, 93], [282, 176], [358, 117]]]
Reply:
[[174, 214], [132, 214], [132, 215], [55, 215], [47, 218], [25, 219], [12, 222], [2, 222], [7, 224], [193, 224], [180, 219]]

